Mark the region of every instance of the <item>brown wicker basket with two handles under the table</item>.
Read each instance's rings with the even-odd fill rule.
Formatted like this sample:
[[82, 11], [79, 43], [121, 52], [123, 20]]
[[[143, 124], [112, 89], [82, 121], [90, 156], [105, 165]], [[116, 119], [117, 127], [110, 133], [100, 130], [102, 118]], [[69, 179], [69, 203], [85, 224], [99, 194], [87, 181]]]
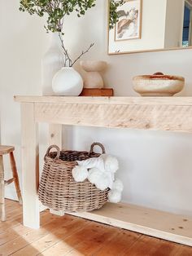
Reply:
[[[81, 212], [99, 209], [107, 202], [109, 188], [101, 191], [88, 179], [77, 183], [72, 177], [76, 161], [100, 156], [94, 152], [95, 145], [105, 153], [101, 143], [93, 143], [90, 152], [59, 151], [55, 145], [47, 149], [39, 186], [39, 200], [43, 205], [53, 210]], [[51, 148], [57, 152], [50, 152]]]

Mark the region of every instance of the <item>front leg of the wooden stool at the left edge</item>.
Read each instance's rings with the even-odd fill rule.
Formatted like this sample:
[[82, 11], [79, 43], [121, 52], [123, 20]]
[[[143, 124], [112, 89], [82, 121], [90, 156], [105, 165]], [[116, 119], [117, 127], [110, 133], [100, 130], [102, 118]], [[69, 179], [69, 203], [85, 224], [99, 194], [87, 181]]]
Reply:
[[6, 220], [6, 211], [5, 211], [5, 182], [4, 182], [4, 169], [3, 169], [3, 160], [0, 156], [0, 211], [1, 211], [1, 220]]

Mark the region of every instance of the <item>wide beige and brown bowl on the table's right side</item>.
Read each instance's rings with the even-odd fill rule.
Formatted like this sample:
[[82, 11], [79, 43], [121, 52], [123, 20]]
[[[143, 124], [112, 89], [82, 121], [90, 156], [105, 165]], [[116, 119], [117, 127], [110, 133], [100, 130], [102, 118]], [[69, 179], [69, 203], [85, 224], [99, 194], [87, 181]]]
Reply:
[[184, 85], [184, 77], [164, 73], [133, 77], [133, 90], [142, 96], [172, 96], [180, 92]]

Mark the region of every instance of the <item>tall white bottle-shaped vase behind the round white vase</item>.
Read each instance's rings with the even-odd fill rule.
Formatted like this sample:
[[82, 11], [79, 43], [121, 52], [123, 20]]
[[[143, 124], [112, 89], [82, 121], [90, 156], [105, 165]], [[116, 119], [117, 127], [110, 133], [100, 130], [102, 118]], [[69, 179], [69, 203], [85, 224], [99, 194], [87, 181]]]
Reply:
[[54, 95], [52, 79], [64, 66], [63, 50], [59, 39], [59, 33], [52, 33], [50, 47], [41, 60], [42, 95]]

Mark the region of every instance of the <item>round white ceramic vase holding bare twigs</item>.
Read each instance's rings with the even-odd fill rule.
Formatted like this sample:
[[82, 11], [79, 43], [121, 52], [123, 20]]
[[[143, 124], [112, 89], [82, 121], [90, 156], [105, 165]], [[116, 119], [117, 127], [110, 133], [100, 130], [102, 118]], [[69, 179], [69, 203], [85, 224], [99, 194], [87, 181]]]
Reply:
[[83, 90], [83, 80], [72, 67], [63, 67], [52, 80], [52, 89], [55, 95], [78, 96]]

